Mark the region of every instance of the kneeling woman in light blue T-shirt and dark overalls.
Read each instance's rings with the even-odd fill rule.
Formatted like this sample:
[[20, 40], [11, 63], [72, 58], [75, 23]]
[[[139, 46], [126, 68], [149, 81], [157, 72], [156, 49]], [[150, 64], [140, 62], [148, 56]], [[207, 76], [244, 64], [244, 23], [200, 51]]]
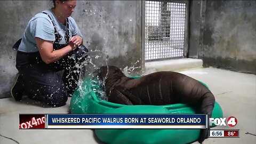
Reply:
[[[82, 49], [82, 34], [70, 17], [76, 1], [53, 3], [52, 9], [36, 14], [29, 21], [18, 44], [16, 68], [19, 75], [11, 89], [17, 101], [25, 92], [30, 99], [60, 107], [77, 87], [79, 73], [75, 64], [78, 58], [81, 62], [87, 49], [84, 46]], [[63, 78], [57, 74], [60, 70], [65, 70]]]

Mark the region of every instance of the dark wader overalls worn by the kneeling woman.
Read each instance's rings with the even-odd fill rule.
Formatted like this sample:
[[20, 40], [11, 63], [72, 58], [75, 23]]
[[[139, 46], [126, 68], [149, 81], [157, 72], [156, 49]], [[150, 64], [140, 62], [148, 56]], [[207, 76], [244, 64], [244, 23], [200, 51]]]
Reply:
[[[68, 29], [68, 19], [66, 24]], [[66, 30], [66, 44], [58, 44], [60, 35], [54, 26], [55, 42], [53, 50], [58, 50], [68, 45], [68, 33], [69, 30]], [[19, 43], [20, 41], [15, 44], [16, 46], [14, 45], [13, 49]], [[24, 80], [25, 93], [30, 99], [46, 102], [50, 106], [60, 107], [65, 105], [68, 95], [72, 95], [77, 87], [78, 71], [80, 69], [75, 67], [75, 65], [81, 65], [85, 61], [87, 52], [86, 47], [81, 45], [62, 59], [46, 64], [41, 59], [39, 52], [26, 53], [18, 51], [16, 68]], [[57, 74], [61, 70], [64, 70], [62, 78]]]

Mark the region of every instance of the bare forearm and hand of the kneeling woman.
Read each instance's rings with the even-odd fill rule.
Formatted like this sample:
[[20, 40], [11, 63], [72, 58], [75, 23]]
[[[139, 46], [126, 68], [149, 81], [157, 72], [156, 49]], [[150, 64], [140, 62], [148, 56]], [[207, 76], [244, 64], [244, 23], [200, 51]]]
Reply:
[[53, 44], [51, 41], [45, 41], [44, 39], [41, 39], [39, 37], [36, 37], [36, 45], [38, 48], [38, 51], [41, 55], [42, 60], [46, 63], [52, 63], [55, 62], [62, 57], [64, 57], [69, 52], [75, 50], [77, 46], [73, 42], [69, 43], [67, 46], [63, 47], [60, 50], [54, 50], [53, 51]]

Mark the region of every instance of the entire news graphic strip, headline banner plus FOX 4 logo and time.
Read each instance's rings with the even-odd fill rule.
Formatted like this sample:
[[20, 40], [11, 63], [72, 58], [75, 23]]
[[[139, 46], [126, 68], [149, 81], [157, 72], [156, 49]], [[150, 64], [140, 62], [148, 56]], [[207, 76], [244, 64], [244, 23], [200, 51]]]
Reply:
[[[86, 122], [83, 119], [101, 119], [102, 122]], [[20, 124], [19, 129], [104, 129], [116, 126], [116, 129], [123, 128], [139, 128], [139, 129], [207, 129], [207, 120], [209, 122], [209, 137], [210, 138], [239, 138], [239, 129], [235, 129], [237, 125], [237, 118], [230, 116], [228, 118], [207, 118], [206, 115], [193, 115], [193, 114], [136, 114], [136, 115], [69, 115], [69, 114], [20, 114]], [[49, 119], [47, 119], [49, 118]], [[54, 119], [82, 119], [82, 121], [64, 121], [64, 122], [54, 122]], [[115, 122], [113, 125], [112, 121], [104, 121], [107, 119], [142, 119], [143, 121], [133, 122], [133, 121], [120, 121]], [[151, 121], [156, 119], [154, 123]], [[161, 119], [170, 119], [170, 121], [161, 121]], [[181, 121], [182, 119], [182, 121]], [[185, 119], [185, 120], [184, 120]], [[187, 120], [186, 120], [187, 119]], [[191, 119], [196, 119], [197, 121], [190, 121]], [[199, 122], [198, 122], [199, 121]], [[55, 127], [54, 127], [55, 126]], [[221, 128], [221, 129], [220, 129]]]

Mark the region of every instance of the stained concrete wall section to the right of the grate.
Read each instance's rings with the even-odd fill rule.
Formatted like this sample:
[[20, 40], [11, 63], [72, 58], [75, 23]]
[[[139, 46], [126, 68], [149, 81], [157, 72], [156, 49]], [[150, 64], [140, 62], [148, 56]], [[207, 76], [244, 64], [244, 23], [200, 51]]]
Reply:
[[256, 74], [255, 18], [255, 1], [206, 1], [198, 53], [204, 66]]

